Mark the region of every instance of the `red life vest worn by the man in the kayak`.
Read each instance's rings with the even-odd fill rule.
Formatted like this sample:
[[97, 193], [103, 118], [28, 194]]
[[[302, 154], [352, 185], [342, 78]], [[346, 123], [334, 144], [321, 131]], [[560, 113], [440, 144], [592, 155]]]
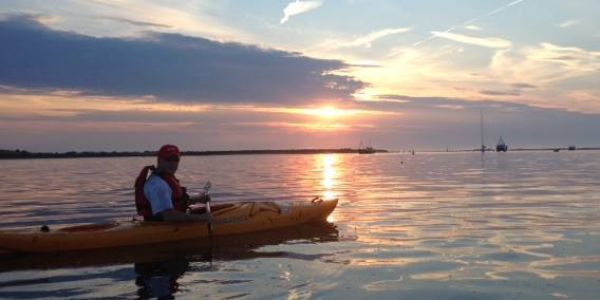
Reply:
[[173, 174], [157, 173], [154, 166], [145, 166], [140, 174], [135, 179], [135, 208], [138, 215], [144, 217], [145, 220], [153, 220], [156, 217], [152, 214], [152, 206], [150, 201], [144, 194], [144, 185], [148, 179], [148, 173], [153, 171], [154, 175], [160, 176], [171, 188], [171, 202], [173, 208], [177, 211], [185, 212], [187, 209], [189, 196], [186, 193], [185, 187], [179, 184], [179, 180]]

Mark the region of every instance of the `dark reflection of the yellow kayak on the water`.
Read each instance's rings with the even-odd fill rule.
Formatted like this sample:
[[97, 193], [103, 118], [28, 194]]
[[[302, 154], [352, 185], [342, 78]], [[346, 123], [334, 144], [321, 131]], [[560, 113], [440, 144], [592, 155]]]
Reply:
[[[328, 243], [339, 241], [334, 224], [310, 222], [298, 226], [276, 228], [268, 231], [245, 233], [236, 236], [216, 236], [209, 242], [205, 238], [159, 244], [144, 244], [118, 248], [88, 249], [83, 251], [12, 253], [0, 255], [0, 270], [47, 270], [61, 268], [98, 267], [117, 264], [151, 263], [159, 261], [207, 260], [230, 261], [273, 257], [287, 257], [289, 252], [261, 251], [259, 248], [297, 243]], [[292, 255], [298, 255], [296, 253]], [[312, 254], [307, 254], [311, 256]], [[315, 254], [319, 255], [319, 254]]]

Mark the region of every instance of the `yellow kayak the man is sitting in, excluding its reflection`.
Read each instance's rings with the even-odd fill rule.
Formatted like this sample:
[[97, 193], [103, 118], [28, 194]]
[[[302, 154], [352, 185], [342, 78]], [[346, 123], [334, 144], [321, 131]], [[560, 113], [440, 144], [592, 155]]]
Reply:
[[[337, 199], [310, 202], [242, 202], [212, 205], [212, 235], [244, 234], [324, 221]], [[208, 237], [206, 223], [129, 221], [63, 227], [48, 231], [0, 231], [5, 252], [60, 252], [157, 244]]]

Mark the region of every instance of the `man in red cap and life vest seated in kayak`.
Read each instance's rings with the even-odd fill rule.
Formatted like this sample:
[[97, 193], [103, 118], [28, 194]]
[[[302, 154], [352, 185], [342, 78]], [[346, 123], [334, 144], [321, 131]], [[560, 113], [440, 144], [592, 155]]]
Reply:
[[[190, 197], [185, 187], [175, 178], [181, 152], [175, 145], [164, 145], [158, 150], [157, 165], [146, 166], [135, 181], [135, 205], [146, 221], [209, 222], [208, 214], [187, 214], [188, 205], [206, 203], [208, 195]], [[148, 177], [149, 171], [152, 175]], [[146, 179], [148, 178], [148, 179]]]

